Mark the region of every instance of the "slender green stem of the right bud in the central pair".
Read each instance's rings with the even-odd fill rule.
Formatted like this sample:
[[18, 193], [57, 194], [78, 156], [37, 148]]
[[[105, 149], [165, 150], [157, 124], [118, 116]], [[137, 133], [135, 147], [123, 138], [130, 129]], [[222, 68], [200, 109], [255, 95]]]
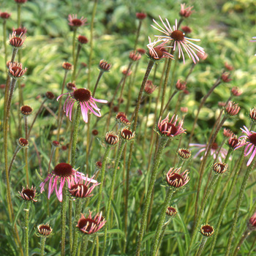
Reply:
[[111, 181], [110, 193], [109, 193], [109, 197], [108, 197], [108, 206], [107, 206], [107, 211], [106, 211], [106, 214], [105, 214], [105, 219], [107, 220], [107, 225], [105, 225], [102, 255], [105, 255], [105, 249], [106, 249], [106, 244], [107, 244], [107, 232], [108, 232], [108, 227], [110, 227], [110, 219], [109, 219], [110, 206], [111, 206], [111, 201], [112, 201], [113, 194], [114, 194], [117, 168], [118, 168], [118, 164], [119, 164], [119, 161], [121, 159], [121, 154], [123, 153], [125, 144], [126, 144], [126, 141], [121, 140], [121, 144], [120, 144], [120, 147], [118, 148], [118, 152], [117, 152], [117, 156], [116, 156], [116, 162], [115, 162], [114, 170], [113, 170], [113, 173], [112, 173], [112, 181]]

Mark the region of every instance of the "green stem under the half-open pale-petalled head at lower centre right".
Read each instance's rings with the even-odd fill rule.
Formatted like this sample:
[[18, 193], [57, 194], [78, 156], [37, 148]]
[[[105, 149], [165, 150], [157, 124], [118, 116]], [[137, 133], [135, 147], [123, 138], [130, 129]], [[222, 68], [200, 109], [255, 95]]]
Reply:
[[166, 212], [166, 208], [169, 206], [170, 199], [173, 196], [174, 192], [175, 192], [174, 189], [172, 189], [172, 188], [168, 189], [168, 192], [165, 196], [165, 202], [163, 203], [163, 206], [162, 206], [162, 211], [159, 214], [159, 217], [157, 219], [157, 230], [156, 230], [156, 233], [154, 235], [154, 239], [153, 239], [154, 244], [153, 244], [152, 249], [151, 249], [151, 255], [152, 256], [157, 254], [157, 247], [161, 246], [161, 244], [159, 244], [159, 237], [160, 237], [161, 230], [162, 230], [162, 227], [163, 227], [164, 222], [165, 222], [165, 212]]

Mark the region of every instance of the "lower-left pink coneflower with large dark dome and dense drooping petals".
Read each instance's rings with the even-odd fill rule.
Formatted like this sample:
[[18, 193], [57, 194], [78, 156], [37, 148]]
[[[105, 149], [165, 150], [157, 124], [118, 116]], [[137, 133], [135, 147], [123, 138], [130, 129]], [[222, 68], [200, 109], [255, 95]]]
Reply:
[[[56, 165], [52, 173], [48, 173], [48, 176], [45, 178], [45, 181], [42, 181], [39, 187], [41, 187], [40, 192], [45, 191], [45, 184], [49, 181], [48, 187], [48, 199], [53, 193], [54, 189], [56, 196], [59, 201], [62, 202], [62, 189], [65, 182], [67, 182], [68, 187], [70, 188], [74, 181], [78, 182], [78, 178], [82, 178], [83, 181], [89, 181], [91, 183], [97, 183], [92, 178], [84, 176], [83, 173], [78, 172], [73, 169], [71, 165], [61, 162], [59, 165]], [[59, 184], [60, 183], [60, 184]]]

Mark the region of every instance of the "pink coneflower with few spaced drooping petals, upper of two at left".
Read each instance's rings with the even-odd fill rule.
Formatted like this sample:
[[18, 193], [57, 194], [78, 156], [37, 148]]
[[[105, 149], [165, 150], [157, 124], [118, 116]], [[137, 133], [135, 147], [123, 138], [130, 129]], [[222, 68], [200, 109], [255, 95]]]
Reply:
[[[64, 103], [64, 112], [66, 113], [66, 116], [69, 116], [70, 121], [72, 121], [72, 109], [75, 102], [78, 102], [78, 104], [80, 104], [83, 121], [85, 121], [86, 123], [88, 122], [89, 110], [91, 111], [91, 113], [94, 113], [95, 116], [102, 116], [100, 113], [100, 109], [97, 107], [95, 102], [108, 103], [108, 100], [93, 98], [91, 96], [91, 91], [85, 88], [75, 89], [74, 91], [67, 92], [66, 94], [69, 94], [69, 96]], [[59, 100], [61, 96], [66, 94], [61, 94], [57, 98], [57, 100]], [[94, 110], [96, 110], [98, 113]]]

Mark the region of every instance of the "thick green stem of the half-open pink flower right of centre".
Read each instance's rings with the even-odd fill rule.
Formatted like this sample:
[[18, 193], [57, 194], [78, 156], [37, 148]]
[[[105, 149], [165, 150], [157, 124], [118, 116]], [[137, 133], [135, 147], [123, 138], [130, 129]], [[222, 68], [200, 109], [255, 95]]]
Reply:
[[150, 203], [150, 199], [151, 199], [151, 194], [154, 188], [154, 182], [156, 181], [157, 178], [157, 173], [158, 173], [158, 167], [160, 164], [160, 160], [162, 157], [162, 153], [164, 151], [165, 145], [167, 144], [168, 139], [165, 137], [161, 137], [160, 141], [159, 141], [159, 148], [157, 151], [157, 155], [154, 159], [154, 164], [153, 164], [153, 168], [152, 168], [152, 174], [151, 174], [151, 179], [148, 185], [148, 192], [146, 195], [146, 199], [145, 199], [145, 203], [144, 203], [144, 207], [143, 207], [143, 214], [142, 214], [142, 218], [140, 221], [140, 233], [138, 235], [138, 240], [137, 240], [137, 249], [136, 249], [136, 256], [140, 255], [140, 249], [141, 249], [141, 243], [142, 243], [142, 239], [143, 239], [143, 234], [144, 234], [144, 230], [146, 227], [146, 222], [147, 222], [147, 216], [148, 216], [148, 208], [149, 208], [149, 203]]

